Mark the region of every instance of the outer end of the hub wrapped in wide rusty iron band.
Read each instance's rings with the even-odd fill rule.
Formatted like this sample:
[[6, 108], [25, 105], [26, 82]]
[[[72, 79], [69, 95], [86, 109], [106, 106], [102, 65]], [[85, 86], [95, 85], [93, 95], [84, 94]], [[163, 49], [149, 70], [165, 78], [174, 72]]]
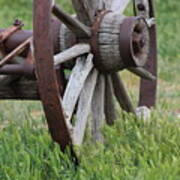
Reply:
[[128, 17], [123, 21], [119, 42], [125, 68], [145, 65], [149, 52], [149, 32], [142, 18]]

